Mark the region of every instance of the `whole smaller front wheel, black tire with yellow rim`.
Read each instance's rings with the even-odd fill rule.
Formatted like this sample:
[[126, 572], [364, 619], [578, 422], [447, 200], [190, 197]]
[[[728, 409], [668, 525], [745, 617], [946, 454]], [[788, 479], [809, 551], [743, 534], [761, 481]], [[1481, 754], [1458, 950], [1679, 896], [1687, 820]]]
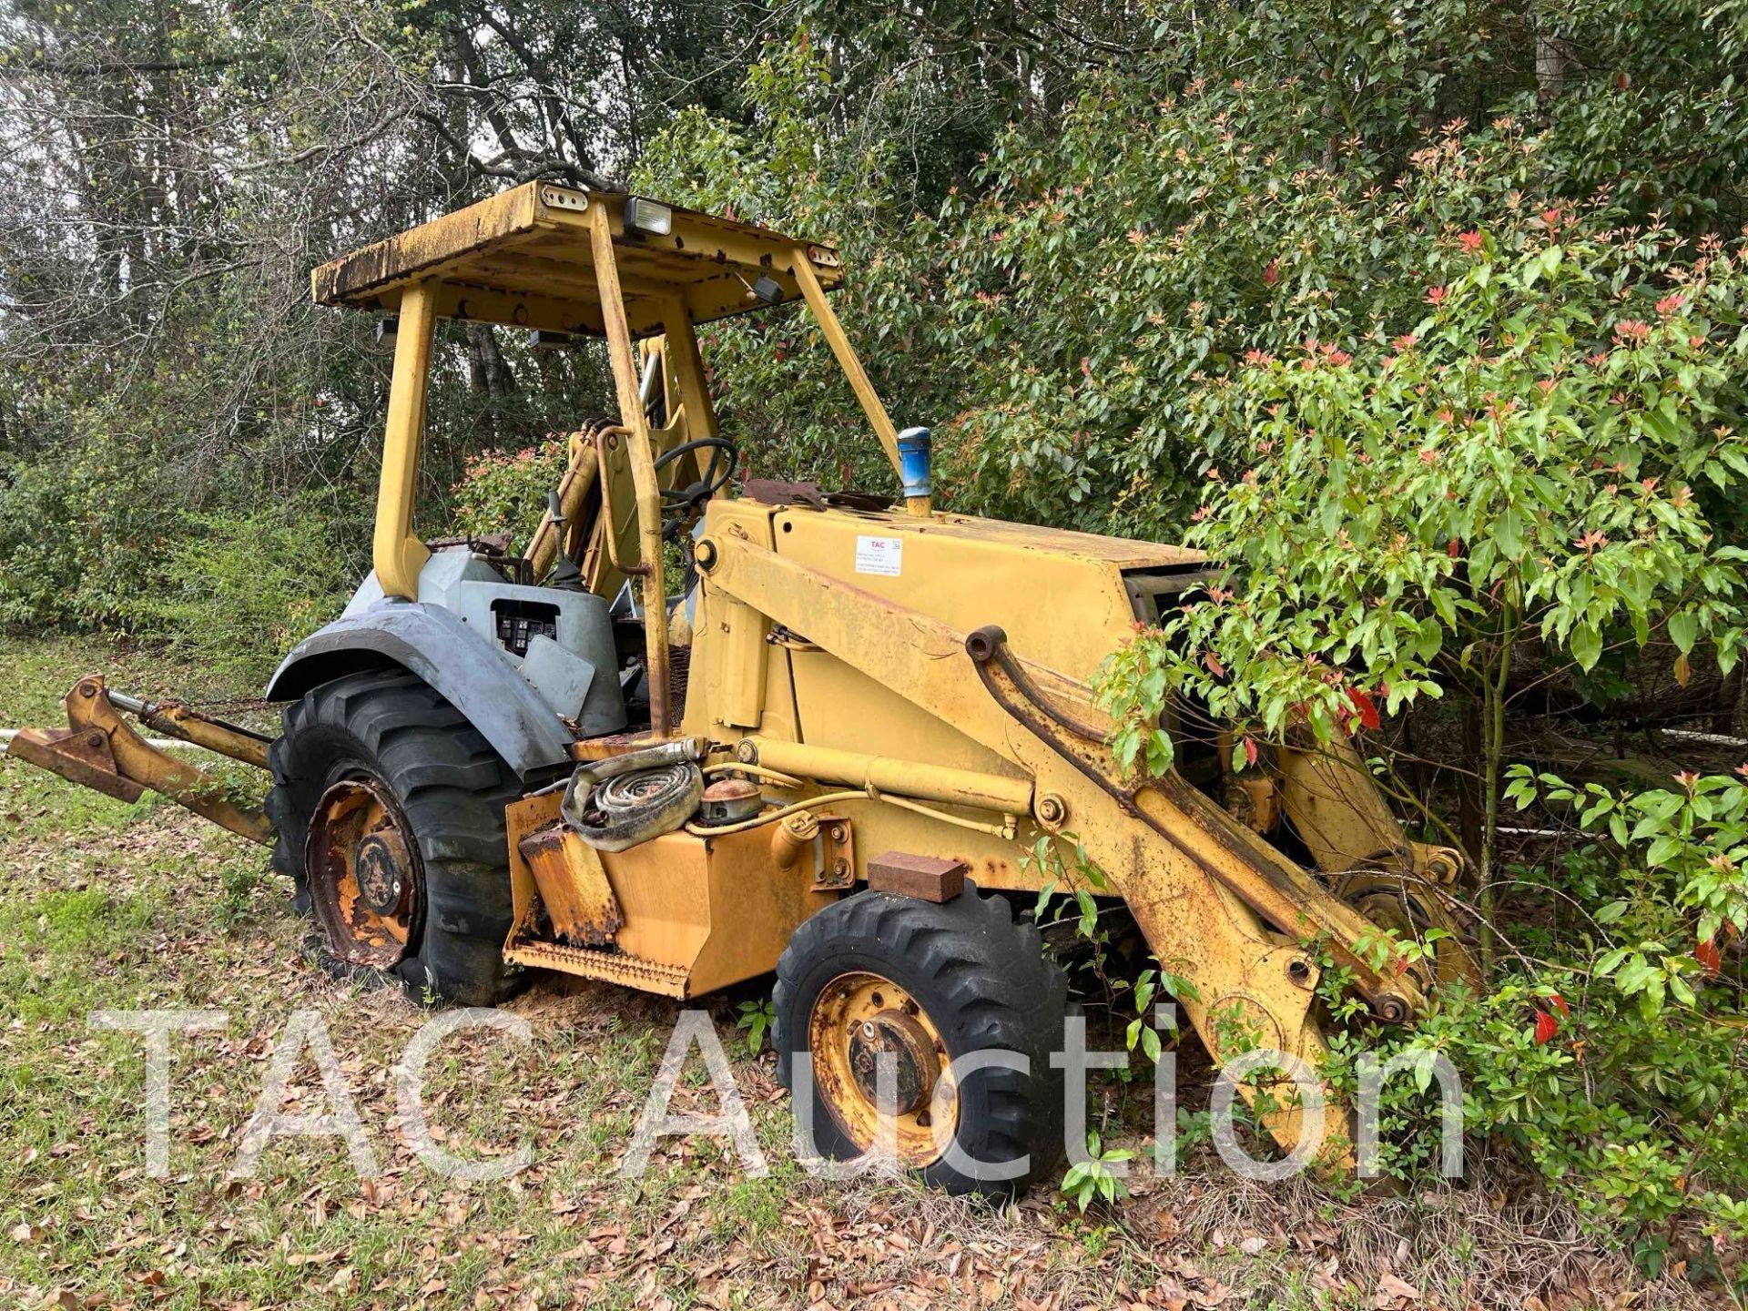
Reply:
[[[808, 1110], [820, 1154], [850, 1161], [876, 1145], [888, 1092], [871, 1072], [888, 1056], [891, 1141], [925, 1183], [1009, 1196], [1061, 1162], [1063, 1080], [1049, 1058], [1063, 1040], [1068, 981], [1003, 898], [979, 897], [968, 881], [942, 905], [846, 897], [795, 930], [773, 1002], [778, 1077], [794, 1092], [795, 1058], [813, 1066]], [[954, 1077], [953, 1063], [977, 1052], [1014, 1052], [1026, 1068]], [[946, 1091], [930, 1096], [942, 1080]], [[937, 1126], [933, 1115], [947, 1112], [953, 1124]], [[961, 1159], [947, 1155], [947, 1141]]]

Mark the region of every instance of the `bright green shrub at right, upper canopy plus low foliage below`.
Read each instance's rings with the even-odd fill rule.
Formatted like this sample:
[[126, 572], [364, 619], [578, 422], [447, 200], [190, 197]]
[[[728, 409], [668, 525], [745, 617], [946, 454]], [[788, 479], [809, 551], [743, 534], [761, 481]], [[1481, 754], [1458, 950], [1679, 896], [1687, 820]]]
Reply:
[[[1351, 1086], [1365, 1047], [1442, 1052], [1472, 1138], [1517, 1143], [1598, 1220], [1692, 1211], [1718, 1234], [1748, 1225], [1727, 1019], [1748, 785], [1683, 776], [1617, 795], [1536, 780], [1507, 767], [1507, 729], [1531, 640], [1540, 676], [1594, 678], [1654, 635], [1682, 682], [1694, 661], [1739, 661], [1745, 290], [1739, 252], [1708, 243], [1683, 262], [1668, 232], [1598, 231], [1559, 208], [1446, 234], [1411, 330], [1259, 350], [1201, 400], [1220, 460], [1189, 537], [1225, 579], [1103, 673], [1119, 757], [1154, 771], [1171, 762], [1155, 725], [1173, 696], [1232, 724], [1236, 769], [1259, 743], [1376, 731], [1419, 699], [1475, 706], [1489, 958], [1502, 802], [1580, 808], [1603, 844], [1530, 876], [1591, 914], [1538, 942], [1535, 967], [1507, 940], [1482, 996], [1446, 996], [1409, 1031], [1339, 1002], [1334, 972], [1351, 1028], [1332, 1079]], [[1460, 841], [1440, 815], [1416, 818]], [[1416, 1086], [1390, 1098], [1386, 1164], [1414, 1176], [1437, 1162], [1433, 1103]]]

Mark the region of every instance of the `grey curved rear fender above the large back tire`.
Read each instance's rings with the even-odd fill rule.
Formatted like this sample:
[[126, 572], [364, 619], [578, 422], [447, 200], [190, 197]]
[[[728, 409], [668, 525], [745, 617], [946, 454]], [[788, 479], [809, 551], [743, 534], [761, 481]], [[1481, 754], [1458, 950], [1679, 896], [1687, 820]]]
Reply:
[[294, 701], [385, 664], [430, 683], [517, 776], [570, 762], [570, 732], [498, 647], [451, 610], [421, 601], [379, 601], [311, 633], [292, 647], [266, 696]]

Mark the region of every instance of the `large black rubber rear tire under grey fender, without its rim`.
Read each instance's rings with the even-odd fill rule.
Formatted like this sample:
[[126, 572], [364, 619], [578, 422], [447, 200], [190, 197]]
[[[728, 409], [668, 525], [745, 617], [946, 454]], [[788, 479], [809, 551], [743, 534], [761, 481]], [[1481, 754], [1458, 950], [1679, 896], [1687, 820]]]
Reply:
[[[292, 904], [311, 909], [306, 843], [322, 795], [341, 780], [390, 794], [414, 848], [418, 916], [393, 974], [414, 998], [493, 1005], [517, 982], [503, 963], [510, 930], [503, 808], [521, 795], [516, 773], [432, 687], [400, 669], [322, 683], [281, 711], [267, 760], [276, 827], [273, 869], [292, 879]], [[372, 974], [323, 958], [341, 974]]]

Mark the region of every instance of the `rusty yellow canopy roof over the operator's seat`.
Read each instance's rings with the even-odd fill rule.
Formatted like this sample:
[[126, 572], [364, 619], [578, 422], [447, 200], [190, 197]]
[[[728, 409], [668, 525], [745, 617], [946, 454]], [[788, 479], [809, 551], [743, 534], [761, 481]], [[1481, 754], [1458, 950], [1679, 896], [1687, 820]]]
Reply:
[[608, 213], [633, 336], [661, 332], [664, 306], [675, 299], [694, 323], [764, 309], [752, 292], [760, 276], [778, 285], [781, 302], [801, 299], [794, 273], [801, 259], [825, 290], [843, 281], [830, 246], [690, 210], [671, 210], [668, 234], [628, 229], [628, 199], [528, 182], [320, 266], [309, 274], [311, 295], [318, 304], [395, 313], [409, 283], [435, 280], [439, 316], [603, 336], [591, 205]]

